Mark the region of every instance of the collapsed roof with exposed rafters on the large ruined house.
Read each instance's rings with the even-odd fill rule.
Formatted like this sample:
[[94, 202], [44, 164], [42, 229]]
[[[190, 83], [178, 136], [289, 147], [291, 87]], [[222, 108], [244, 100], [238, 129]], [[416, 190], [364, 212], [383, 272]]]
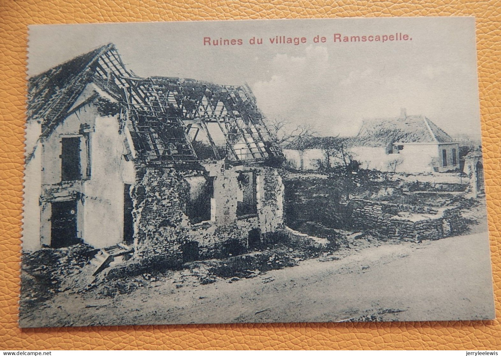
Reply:
[[[113, 44], [78, 56], [28, 82], [28, 120], [42, 124], [49, 137], [66, 118], [87, 84], [103, 83], [119, 93], [134, 148], [147, 163], [198, 162], [193, 143], [198, 131], [208, 138], [214, 159], [269, 161], [283, 159], [250, 88], [173, 77], [141, 78], [128, 71]], [[225, 149], [217, 146], [207, 124], [217, 124]], [[221, 152], [223, 151], [223, 152]]]

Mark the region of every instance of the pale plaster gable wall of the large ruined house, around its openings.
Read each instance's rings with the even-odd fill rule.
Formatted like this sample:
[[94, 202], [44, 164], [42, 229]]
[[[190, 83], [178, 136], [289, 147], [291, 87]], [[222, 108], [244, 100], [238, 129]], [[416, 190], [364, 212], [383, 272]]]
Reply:
[[[77, 100], [82, 106], [39, 143], [43, 147], [41, 157], [35, 156], [30, 162], [35, 166], [40, 159], [43, 167], [40, 182], [36, 182], [36, 174], [29, 175], [30, 185], [42, 188], [36, 211], [40, 212], [38, 230], [43, 245], [51, 243], [51, 203], [65, 200], [77, 201], [77, 237], [85, 243], [102, 248], [123, 240], [124, 183], [135, 182], [134, 166], [124, 158], [130, 151], [118, 114], [102, 116], [92, 101], [85, 103], [92, 94], [87, 89]], [[63, 137], [80, 138], [80, 180], [62, 182]], [[29, 229], [35, 230], [35, 225]], [[35, 242], [27, 246], [41, 247]]]

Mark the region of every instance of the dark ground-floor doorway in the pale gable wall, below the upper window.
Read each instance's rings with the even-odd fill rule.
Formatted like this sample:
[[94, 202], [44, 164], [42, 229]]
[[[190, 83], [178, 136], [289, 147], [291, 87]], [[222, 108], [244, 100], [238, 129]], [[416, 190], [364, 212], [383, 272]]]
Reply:
[[67, 247], [81, 242], [77, 238], [77, 201], [52, 203], [51, 247]]

